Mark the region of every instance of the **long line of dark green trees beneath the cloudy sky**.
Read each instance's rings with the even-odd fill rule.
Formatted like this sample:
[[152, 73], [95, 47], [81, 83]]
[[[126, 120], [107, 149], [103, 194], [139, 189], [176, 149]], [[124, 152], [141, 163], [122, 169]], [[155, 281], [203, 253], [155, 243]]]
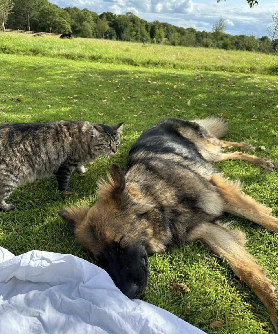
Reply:
[[[1, 0], [9, 4], [4, 27], [50, 33], [73, 33], [87, 38], [105, 38], [167, 45], [217, 47], [226, 50], [247, 50], [264, 53], [278, 51], [278, 29], [272, 34], [255, 36], [225, 33], [225, 21], [220, 18], [212, 32], [182, 28], [166, 22], [147, 22], [131, 12], [98, 15], [88, 9], [60, 8], [47, 0]], [[0, 6], [1, 18], [1, 6]], [[1, 18], [2, 19], [2, 18]], [[277, 24], [276, 24], [277, 28]], [[274, 32], [274, 33], [273, 33]]]

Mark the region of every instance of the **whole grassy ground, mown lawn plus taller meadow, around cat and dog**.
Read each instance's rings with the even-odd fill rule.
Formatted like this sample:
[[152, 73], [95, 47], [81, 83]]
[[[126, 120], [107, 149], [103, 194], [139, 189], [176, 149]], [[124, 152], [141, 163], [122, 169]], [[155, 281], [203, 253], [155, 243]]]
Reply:
[[[123, 121], [125, 127], [115, 157], [101, 157], [88, 166], [86, 175], [72, 176], [74, 194], [60, 194], [51, 177], [10, 196], [8, 203], [16, 209], [0, 212], [0, 245], [15, 255], [40, 249], [92, 261], [75, 245], [57, 210], [93, 204], [99, 177], [105, 176], [113, 161], [124, 168], [140, 133], [167, 117], [224, 117], [229, 120], [230, 140], [250, 142], [257, 147], [256, 155], [278, 161], [278, 78], [262, 74], [277, 67], [275, 56], [9, 34], [0, 34], [0, 50], [1, 123], [62, 119]], [[231, 179], [244, 182], [245, 193], [278, 215], [277, 172], [243, 161], [216, 166]], [[242, 228], [247, 249], [278, 284], [277, 235], [235, 216], [225, 221]], [[265, 307], [250, 288], [235, 282], [228, 264], [198, 243], [152, 256], [149, 272], [148, 287], [140, 298], [207, 333], [274, 333]], [[174, 292], [174, 283], [189, 289]], [[222, 328], [210, 326], [221, 320]]]

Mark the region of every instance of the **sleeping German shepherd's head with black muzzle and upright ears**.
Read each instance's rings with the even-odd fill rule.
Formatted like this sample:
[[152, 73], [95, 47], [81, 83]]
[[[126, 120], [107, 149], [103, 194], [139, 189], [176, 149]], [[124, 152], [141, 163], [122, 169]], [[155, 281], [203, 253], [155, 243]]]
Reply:
[[125, 189], [121, 168], [113, 164], [98, 184], [92, 207], [59, 210], [73, 227], [76, 240], [89, 249], [116, 286], [129, 298], [141, 294], [148, 281], [147, 212], [152, 205], [134, 202]]

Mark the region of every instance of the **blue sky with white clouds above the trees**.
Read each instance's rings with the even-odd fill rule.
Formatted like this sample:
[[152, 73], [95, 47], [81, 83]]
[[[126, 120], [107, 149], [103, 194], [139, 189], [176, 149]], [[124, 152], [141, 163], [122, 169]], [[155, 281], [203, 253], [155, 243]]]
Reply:
[[232, 35], [266, 36], [272, 22], [271, 15], [278, 11], [278, 1], [258, 0], [250, 8], [245, 0], [50, 0], [59, 7], [88, 8], [98, 14], [132, 12], [147, 20], [211, 31], [220, 17], [226, 20], [226, 32]]

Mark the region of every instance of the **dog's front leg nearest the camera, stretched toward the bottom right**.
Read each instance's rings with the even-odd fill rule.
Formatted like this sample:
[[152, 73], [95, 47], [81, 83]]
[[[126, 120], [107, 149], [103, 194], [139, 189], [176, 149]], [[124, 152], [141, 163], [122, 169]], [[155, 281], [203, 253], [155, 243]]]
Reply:
[[217, 256], [226, 260], [234, 273], [244, 281], [266, 306], [278, 332], [278, 292], [265, 271], [244, 249], [245, 237], [239, 229], [230, 230], [220, 224], [202, 223], [189, 234], [188, 241], [200, 240]]

